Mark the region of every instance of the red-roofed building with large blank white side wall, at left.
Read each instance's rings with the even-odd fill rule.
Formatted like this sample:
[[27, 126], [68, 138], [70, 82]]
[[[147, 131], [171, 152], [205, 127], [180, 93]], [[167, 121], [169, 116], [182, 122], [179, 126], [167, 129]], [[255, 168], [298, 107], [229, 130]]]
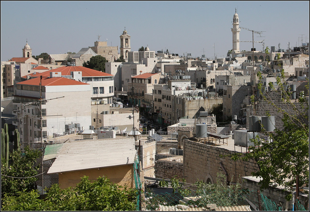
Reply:
[[[42, 95], [40, 97], [40, 83]], [[21, 148], [29, 145], [33, 148], [42, 137], [63, 134], [65, 124], [80, 123], [86, 129], [91, 124], [91, 85], [64, 77], [36, 77], [16, 83], [13, 99], [13, 125], [20, 132]], [[52, 99], [42, 103], [42, 116], [38, 100]], [[29, 104], [33, 102], [33, 104]], [[78, 113], [78, 116], [77, 116]], [[39, 142], [41, 143], [41, 142]]]

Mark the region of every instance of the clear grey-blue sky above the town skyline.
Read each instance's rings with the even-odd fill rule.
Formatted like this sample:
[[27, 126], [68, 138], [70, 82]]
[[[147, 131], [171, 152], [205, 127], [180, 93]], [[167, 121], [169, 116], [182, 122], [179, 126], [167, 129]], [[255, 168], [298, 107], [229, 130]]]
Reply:
[[[32, 55], [78, 52], [94, 46], [98, 35], [120, 46], [124, 27], [131, 51], [148, 46], [155, 52], [226, 57], [235, 8], [239, 27], [263, 32], [254, 34], [254, 41], [264, 40], [265, 47], [309, 42], [308, 1], [1, 1], [1, 61], [22, 57], [26, 39]], [[240, 41], [240, 50], [250, 51], [252, 32], [241, 29]], [[263, 50], [262, 43], [254, 47]]]

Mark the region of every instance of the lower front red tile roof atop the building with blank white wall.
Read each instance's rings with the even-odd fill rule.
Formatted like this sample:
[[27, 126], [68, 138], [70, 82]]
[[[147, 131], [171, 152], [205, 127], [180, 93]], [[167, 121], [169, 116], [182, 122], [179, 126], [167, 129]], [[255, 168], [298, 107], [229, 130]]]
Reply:
[[[16, 83], [17, 85], [40, 85], [40, 77], [29, 79], [23, 82]], [[62, 86], [62, 85], [89, 85], [84, 82], [79, 82], [73, 79], [64, 77], [42, 77], [42, 86]]]

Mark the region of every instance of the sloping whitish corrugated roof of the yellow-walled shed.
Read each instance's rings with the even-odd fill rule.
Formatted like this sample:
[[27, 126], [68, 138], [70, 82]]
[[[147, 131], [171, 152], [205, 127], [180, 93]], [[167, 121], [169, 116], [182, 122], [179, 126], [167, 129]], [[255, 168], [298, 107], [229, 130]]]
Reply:
[[133, 164], [133, 138], [71, 141], [63, 145], [48, 174]]

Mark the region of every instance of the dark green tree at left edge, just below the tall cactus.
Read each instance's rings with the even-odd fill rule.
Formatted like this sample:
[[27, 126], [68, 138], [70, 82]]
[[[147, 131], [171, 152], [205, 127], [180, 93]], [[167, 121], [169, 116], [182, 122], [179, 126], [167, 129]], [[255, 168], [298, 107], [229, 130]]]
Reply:
[[7, 160], [1, 158], [1, 196], [16, 196], [18, 192], [30, 192], [34, 189], [35, 177], [40, 164], [34, 166], [34, 162], [41, 156], [38, 150], [30, 150], [25, 147], [24, 151], [15, 150], [10, 153], [11, 164], [7, 166]]

